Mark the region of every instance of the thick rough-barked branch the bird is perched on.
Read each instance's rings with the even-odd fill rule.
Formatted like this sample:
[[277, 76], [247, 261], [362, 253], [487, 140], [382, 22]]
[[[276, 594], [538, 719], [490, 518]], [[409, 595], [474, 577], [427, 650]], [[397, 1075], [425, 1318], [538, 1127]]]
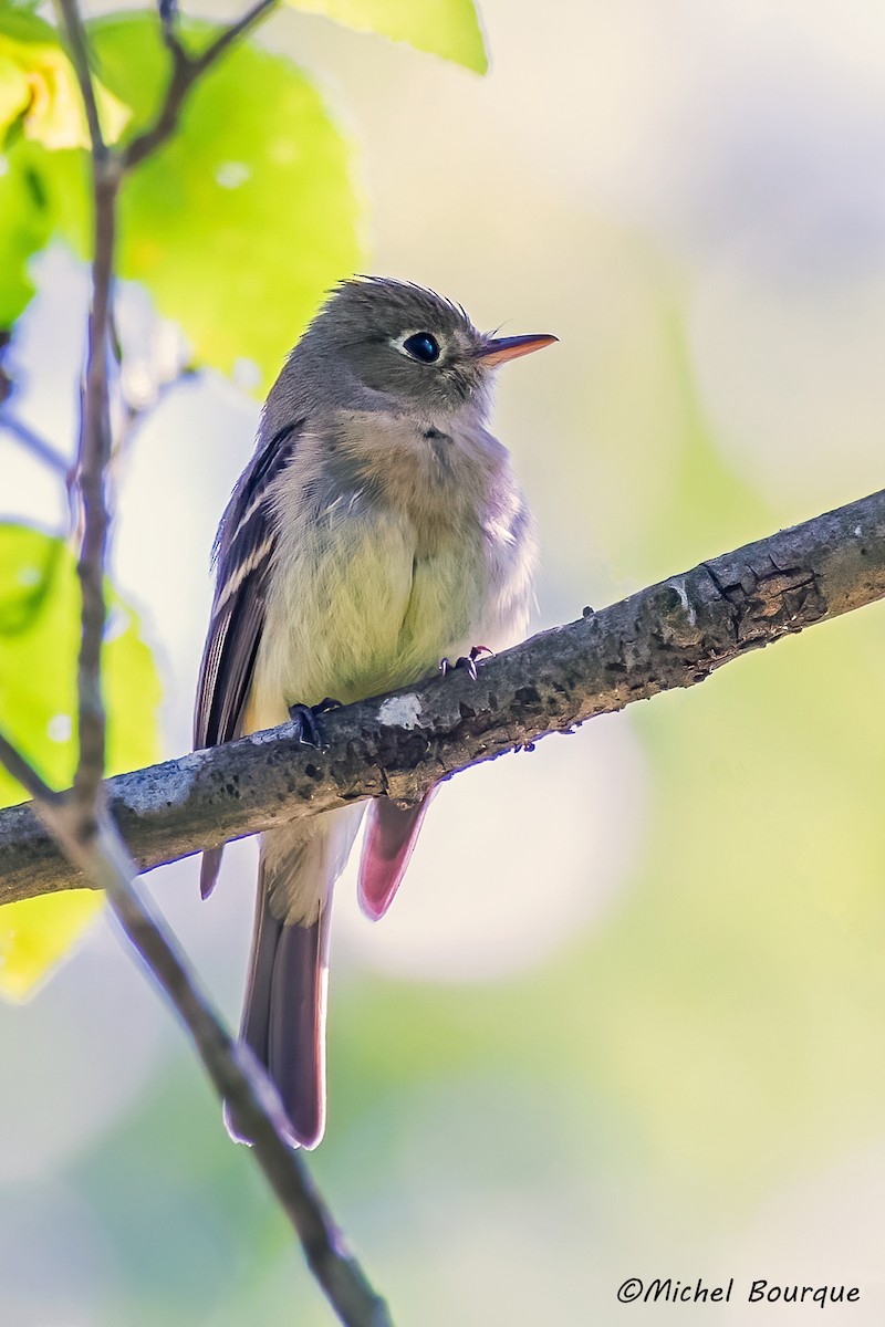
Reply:
[[[885, 597], [885, 490], [701, 563], [488, 660], [324, 717], [107, 782], [142, 869], [358, 798], [437, 779], [597, 714], [703, 682], [748, 650]], [[28, 805], [0, 812], [0, 902], [85, 884]]]

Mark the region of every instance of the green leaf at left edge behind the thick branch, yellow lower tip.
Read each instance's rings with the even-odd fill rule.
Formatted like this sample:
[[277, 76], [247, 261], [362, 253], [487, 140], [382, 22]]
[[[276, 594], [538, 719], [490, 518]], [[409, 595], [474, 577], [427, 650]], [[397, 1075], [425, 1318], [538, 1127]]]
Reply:
[[[161, 689], [138, 620], [109, 588], [103, 649], [110, 774], [158, 756]], [[76, 763], [80, 591], [61, 539], [0, 524], [0, 727], [46, 782], [66, 786]], [[0, 770], [0, 805], [23, 800]], [[0, 908], [0, 994], [23, 999], [82, 933], [102, 894], [46, 894]]]

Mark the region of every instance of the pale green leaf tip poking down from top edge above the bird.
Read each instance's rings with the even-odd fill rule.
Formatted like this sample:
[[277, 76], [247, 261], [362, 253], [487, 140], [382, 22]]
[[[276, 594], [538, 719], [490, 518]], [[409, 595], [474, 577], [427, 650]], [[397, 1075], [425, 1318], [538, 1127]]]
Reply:
[[288, 0], [295, 9], [321, 13], [358, 32], [407, 41], [418, 50], [454, 60], [479, 74], [488, 57], [472, 0]]

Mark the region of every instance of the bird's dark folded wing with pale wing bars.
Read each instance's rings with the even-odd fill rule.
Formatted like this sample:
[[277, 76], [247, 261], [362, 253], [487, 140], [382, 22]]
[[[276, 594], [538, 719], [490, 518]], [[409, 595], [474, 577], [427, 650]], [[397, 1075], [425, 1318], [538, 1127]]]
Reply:
[[[292, 459], [301, 427], [301, 422], [289, 425], [256, 451], [222, 518], [215, 544], [215, 598], [196, 686], [195, 750], [230, 742], [240, 734], [264, 629], [276, 544], [268, 498], [273, 479]], [[203, 897], [211, 892], [220, 863], [222, 848], [203, 853]]]

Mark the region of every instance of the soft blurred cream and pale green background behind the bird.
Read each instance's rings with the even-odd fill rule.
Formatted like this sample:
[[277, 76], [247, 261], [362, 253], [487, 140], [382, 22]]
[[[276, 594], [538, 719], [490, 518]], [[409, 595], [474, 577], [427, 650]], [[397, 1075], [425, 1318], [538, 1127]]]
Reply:
[[[502, 374], [495, 415], [540, 524], [535, 626], [881, 487], [878, 0], [482, 13], [484, 80], [295, 13], [260, 40], [357, 145], [372, 271], [561, 338]], [[70, 453], [86, 284], [62, 248], [37, 277], [19, 413]], [[113, 568], [167, 755], [256, 418], [202, 374], [119, 476]], [[11, 437], [0, 508], [64, 528]], [[870, 608], [455, 779], [381, 925], [345, 876], [310, 1160], [398, 1323], [682, 1322], [617, 1303], [655, 1275], [735, 1277], [710, 1324], [817, 1320], [748, 1306], [756, 1278], [857, 1285], [827, 1322], [882, 1322], [884, 689]], [[206, 905], [194, 861], [147, 880], [231, 1022], [253, 857]], [[4, 1327], [330, 1322], [107, 921], [0, 1006], [0, 1060]]]

